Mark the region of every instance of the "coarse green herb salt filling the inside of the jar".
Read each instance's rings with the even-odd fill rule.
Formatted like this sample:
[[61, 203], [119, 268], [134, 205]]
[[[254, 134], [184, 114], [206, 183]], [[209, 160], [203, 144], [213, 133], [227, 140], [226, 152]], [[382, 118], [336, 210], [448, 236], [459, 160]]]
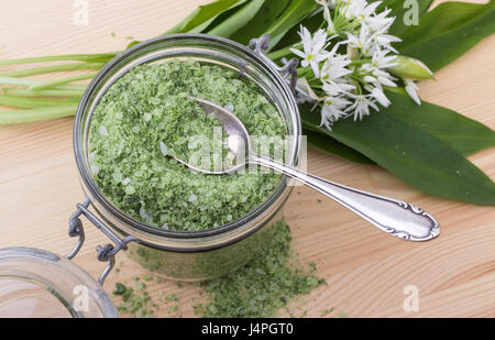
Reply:
[[163, 229], [202, 230], [239, 219], [280, 179], [273, 172], [204, 175], [169, 157], [190, 151], [189, 136], [210, 138], [219, 124], [198, 114], [189, 97], [228, 107], [251, 135], [286, 135], [275, 107], [231, 69], [174, 59], [136, 66], [118, 79], [90, 122], [91, 171], [113, 205]]

